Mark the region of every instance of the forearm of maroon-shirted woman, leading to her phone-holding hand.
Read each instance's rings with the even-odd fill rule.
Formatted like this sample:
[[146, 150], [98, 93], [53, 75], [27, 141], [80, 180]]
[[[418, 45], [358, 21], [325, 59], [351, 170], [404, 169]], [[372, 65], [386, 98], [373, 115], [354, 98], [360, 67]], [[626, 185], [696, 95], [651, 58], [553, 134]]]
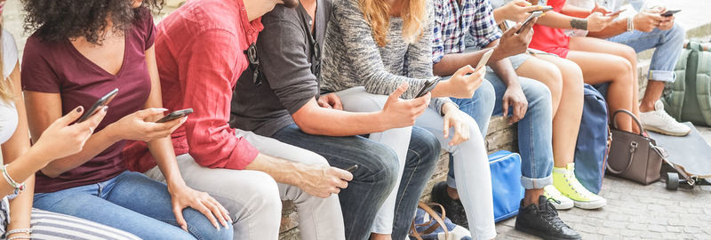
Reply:
[[99, 155], [101, 152], [106, 150], [108, 147], [111, 147], [111, 145], [118, 141], [112, 136], [113, 134], [110, 133], [108, 127], [100, 132], [94, 133], [89, 140], [86, 140], [84, 148], [82, 148], [81, 152], [52, 161], [52, 163], [47, 164], [44, 168], [42, 168], [42, 172], [45, 175], [54, 178], [63, 172], [75, 169], [76, 167], [89, 162], [89, 160], [92, 160], [94, 156]]

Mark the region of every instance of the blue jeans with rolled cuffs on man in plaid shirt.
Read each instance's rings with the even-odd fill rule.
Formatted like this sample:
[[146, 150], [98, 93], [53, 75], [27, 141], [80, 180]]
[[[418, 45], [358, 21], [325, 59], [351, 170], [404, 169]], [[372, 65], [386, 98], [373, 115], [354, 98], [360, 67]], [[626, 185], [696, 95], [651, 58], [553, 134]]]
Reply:
[[[491, 115], [503, 115], [503, 97], [507, 90], [499, 76], [491, 68], [487, 69], [486, 80], [476, 90], [471, 99], [452, 99], [459, 108], [475, 119], [486, 136]], [[518, 148], [521, 153], [521, 185], [523, 188], [543, 188], [553, 184], [553, 116], [550, 91], [539, 81], [519, 77], [523, 94], [528, 100], [528, 110], [523, 119], [518, 122]], [[513, 113], [509, 108], [508, 115]], [[450, 157], [451, 161], [451, 157]], [[450, 166], [452, 166], [450, 162]], [[454, 172], [447, 176], [447, 184], [455, 188]]]

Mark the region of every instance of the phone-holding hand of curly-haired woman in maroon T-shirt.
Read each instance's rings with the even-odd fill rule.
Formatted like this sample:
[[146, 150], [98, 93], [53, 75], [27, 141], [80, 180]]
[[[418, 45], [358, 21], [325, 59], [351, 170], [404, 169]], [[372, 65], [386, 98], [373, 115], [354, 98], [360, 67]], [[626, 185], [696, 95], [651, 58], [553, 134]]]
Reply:
[[108, 125], [107, 128], [110, 128], [110, 135], [114, 136], [116, 140], [150, 141], [165, 138], [188, 119], [187, 116], [184, 116], [161, 124], [147, 121], [147, 119], [155, 119], [156, 116], [162, 115], [166, 110], [165, 108], [143, 109], [124, 116], [116, 123]]

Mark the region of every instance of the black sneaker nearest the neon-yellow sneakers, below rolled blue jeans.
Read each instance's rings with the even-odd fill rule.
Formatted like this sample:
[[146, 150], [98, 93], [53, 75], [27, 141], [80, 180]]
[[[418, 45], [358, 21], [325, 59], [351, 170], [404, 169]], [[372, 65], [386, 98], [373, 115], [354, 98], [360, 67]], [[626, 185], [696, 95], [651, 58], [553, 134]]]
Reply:
[[558, 217], [553, 204], [546, 196], [539, 196], [539, 206], [531, 204], [523, 207], [523, 200], [518, 209], [515, 228], [524, 233], [543, 237], [547, 240], [582, 239], [578, 232]]

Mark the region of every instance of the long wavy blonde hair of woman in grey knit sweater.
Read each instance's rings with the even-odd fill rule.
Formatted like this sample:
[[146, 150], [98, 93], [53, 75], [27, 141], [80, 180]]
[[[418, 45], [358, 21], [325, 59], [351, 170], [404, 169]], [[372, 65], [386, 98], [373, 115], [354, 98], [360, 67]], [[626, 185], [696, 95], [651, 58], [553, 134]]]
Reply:
[[[403, 1], [403, 38], [407, 43], [419, 40], [427, 24], [427, 0]], [[379, 46], [387, 44], [387, 31], [390, 28], [390, 4], [386, 0], [358, 0], [365, 21], [371, 26], [372, 36]]]

